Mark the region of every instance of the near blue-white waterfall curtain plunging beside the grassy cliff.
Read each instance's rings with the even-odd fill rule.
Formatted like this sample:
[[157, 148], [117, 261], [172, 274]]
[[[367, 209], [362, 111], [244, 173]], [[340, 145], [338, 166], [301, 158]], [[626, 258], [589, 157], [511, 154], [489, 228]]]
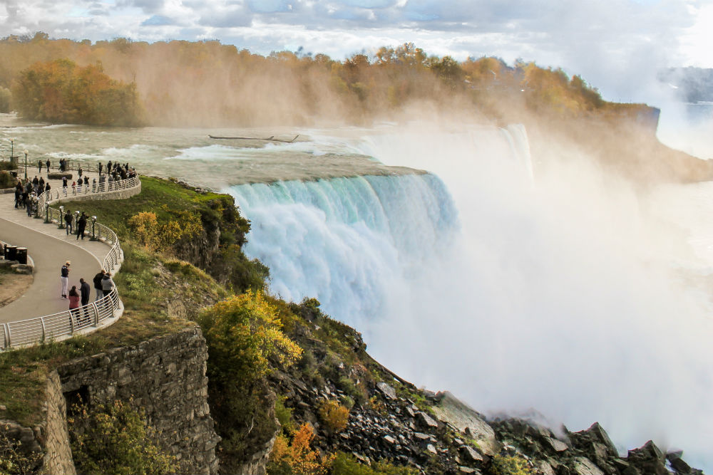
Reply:
[[433, 174], [337, 178], [230, 187], [252, 221], [245, 252], [270, 266], [270, 290], [316, 297], [361, 329], [381, 318], [394, 283], [447, 251], [458, 228], [448, 191]]

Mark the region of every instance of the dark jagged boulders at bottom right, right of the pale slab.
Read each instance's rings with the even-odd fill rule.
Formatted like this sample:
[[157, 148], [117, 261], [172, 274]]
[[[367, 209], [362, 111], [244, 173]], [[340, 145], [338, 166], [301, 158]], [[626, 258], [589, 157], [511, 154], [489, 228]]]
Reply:
[[[621, 457], [607, 432], [595, 422], [589, 429], [555, 435], [547, 427], [523, 419], [490, 422], [511, 451], [529, 461], [536, 474], [546, 475], [670, 475], [700, 474], [681, 459], [664, 454], [649, 441]], [[668, 461], [668, 463], [667, 463]]]

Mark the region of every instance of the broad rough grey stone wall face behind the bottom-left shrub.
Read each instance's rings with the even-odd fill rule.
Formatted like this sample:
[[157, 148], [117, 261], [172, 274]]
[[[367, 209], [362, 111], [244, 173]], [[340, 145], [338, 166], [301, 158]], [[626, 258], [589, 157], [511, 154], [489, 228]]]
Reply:
[[58, 368], [64, 395], [90, 404], [123, 400], [144, 409], [161, 447], [183, 473], [215, 474], [215, 446], [207, 403], [207, 347], [198, 326], [138, 345], [78, 358]]

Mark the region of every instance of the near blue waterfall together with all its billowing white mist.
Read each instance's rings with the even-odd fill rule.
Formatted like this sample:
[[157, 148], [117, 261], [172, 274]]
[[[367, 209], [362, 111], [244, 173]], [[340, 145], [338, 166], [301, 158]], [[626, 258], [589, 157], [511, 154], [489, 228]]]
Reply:
[[665, 193], [642, 199], [555, 145], [565, 160], [533, 186], [521, 127], [381, 131], [361, 148], [448, 189], [429, 175], [232, 187], [273, 291], [317, 296], [381, 362], [479, 410], [597, 420], [621, 449], [653, 438], [713, 467], [697, 285], [712, 267], [670, 226]]

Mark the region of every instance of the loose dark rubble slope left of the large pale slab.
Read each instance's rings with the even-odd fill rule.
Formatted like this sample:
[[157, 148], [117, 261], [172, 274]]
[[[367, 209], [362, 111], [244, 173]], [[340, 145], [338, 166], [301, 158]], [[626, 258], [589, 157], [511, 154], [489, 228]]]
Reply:
[[[344, 451], [364, 464], [388, 459], [424, 474], [481, 474], [490, 460], [469, 428], [461, 432], [439, 419], [430, 404], [419, 406], [414, 400], [399, 397], [385, 382], [377, 382], [369, 404], [354, 405], [347, 427], [334, 432], [320, 421], [317, 408], [327, 400], [343, 400], [342, 390], [330, 382], [321, 389], [307, 387], [284, 374], [277, 380], [287, 395], [285, 404], [292, 407], [295, 419], [312, 424], [319, 436], [314, 444], [322, 451]], [[429, 396], [433, 403], [440, 397]]]

